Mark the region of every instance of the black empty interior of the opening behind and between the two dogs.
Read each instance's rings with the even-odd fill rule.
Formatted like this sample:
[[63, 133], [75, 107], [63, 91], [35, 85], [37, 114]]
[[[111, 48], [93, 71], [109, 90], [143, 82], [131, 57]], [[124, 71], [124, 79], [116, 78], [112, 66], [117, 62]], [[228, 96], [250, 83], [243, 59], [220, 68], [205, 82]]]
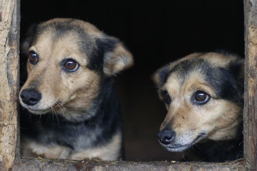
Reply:
[[[86, 20], [119, 38], [135, 65], [117, 78], [125, 127], [125, 159], [182, 160], [157, 140], [166, 115], [150, 77], [155, 70], [187, 54], [224, 49], [244, 55], [243, 1], [100, 1], [21, 2], [21, 42], [33, 23], [56, 17]], [[21, 76], [27, 58], [21, 56]], [[24, 82], [24, 79], [21, 78]]]

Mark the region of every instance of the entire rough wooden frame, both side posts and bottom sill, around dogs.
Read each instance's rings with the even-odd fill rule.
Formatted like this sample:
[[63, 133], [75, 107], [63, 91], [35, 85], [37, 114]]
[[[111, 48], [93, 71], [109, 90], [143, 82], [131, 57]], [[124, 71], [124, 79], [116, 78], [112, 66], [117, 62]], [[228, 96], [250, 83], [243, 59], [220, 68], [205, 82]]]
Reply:
[[228, 163], [21, 159], [17, 97], [20, 0], [0, 1], [0, 170], [256, 170], [257, 0], [244, 0], [244, 160]]

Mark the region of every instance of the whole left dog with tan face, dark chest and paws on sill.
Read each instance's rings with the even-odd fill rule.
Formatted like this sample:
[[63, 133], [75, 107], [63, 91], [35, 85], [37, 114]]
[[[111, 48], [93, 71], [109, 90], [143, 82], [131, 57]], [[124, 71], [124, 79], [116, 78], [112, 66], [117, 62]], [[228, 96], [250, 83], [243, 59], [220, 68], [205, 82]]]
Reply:
[[55, 18], [31, 26], [22, 48], [22, 155], [119, 159], [122, 116], [113, 82], [133, 65], [123, 43], [88, 22]]

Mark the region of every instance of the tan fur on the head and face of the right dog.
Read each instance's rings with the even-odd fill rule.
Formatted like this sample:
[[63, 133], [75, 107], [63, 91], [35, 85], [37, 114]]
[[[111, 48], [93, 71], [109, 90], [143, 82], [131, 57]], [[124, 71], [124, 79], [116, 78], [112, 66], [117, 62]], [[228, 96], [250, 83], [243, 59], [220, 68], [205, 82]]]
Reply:
[[[224, 68], [228, 66], [228, 63], [238, 60], [233, 55], [227, 57], [217, 53], [204, 55], [194, 53], [169, 64], [169, 70], [181, 61], [194, 58], [202, 58], [215, 67]], [[161, 70], [163, 68], [153, 76], [157, 85], [162, 84], [159, 74]], [[179, 74], [178, 71], [171, 73], [160, 90], [167, 90], [172, 98], [171, 104], [166, 104], [168, 112], [160, 130], [169, 128], [176, 133], [173, 144], [180, 146], [196, 143], [198, 135], [203, 133], [205, 133], [205, 138], [211, 140], [229, 140], [238, 136], [236, 131], [240, 124], [238, 118], [242, 107], [229, 100], [216, 99], [215, 90], [208, 85], [206, 82], [208, 78], [201, 73], [201, 70], [194, 70], [186, 80]], [[211, 96], [207, 104], [198, 106], [192, 103], [191, 97], [198, 90], [207, 92]]]

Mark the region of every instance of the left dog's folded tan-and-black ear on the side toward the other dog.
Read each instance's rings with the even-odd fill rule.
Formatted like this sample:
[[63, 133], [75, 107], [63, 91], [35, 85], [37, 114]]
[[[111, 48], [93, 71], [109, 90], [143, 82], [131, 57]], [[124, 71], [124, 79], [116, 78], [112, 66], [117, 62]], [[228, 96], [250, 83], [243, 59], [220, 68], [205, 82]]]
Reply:
[[134, 63], [132, 54], [122, 42], [114, 37], [105, 39], [103, 72], [107, 76], [115, 75]]

